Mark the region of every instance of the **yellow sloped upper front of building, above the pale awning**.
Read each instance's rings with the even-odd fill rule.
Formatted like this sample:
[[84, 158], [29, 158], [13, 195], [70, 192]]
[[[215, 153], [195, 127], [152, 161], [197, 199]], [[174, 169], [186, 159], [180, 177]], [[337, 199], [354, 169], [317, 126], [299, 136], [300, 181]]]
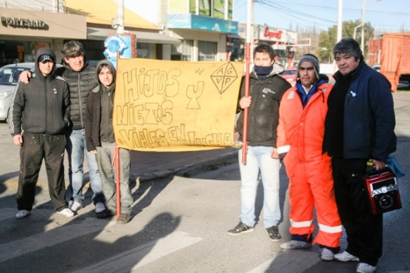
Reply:
[[[65, 11], [86, 16], [87, 23], [111, 25], [113, 18], [117, 18], [117, 2], [113, 0], [65, 0]], [[128, 8], [124, 8], [124, 27], [160, 30], [158, 26], [136, 15]]]

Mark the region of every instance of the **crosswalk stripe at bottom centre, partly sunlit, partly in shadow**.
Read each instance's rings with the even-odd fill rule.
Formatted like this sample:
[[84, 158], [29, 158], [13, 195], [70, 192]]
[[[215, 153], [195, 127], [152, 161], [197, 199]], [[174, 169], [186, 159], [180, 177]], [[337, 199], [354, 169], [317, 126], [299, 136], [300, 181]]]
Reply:
[[[75, 270], [75, 273], [103, 273], [117, 272], [129, 273], [133, 270], [148, 265], [169, 253], [179, 251], [182, 248], [191, 246], [192, 244], [202, 241], [200, 237], [190, 237], [186, 232], [173, 232], [167, 237], [150, 241], [148, 244], [143, 244], [137, 248], [125, 251], [101, 262], [96, 262], [88, 267]], [[139, 262], [138, 262], [139, 261]], [[137, 264], [135, 264], [138, 262]]]

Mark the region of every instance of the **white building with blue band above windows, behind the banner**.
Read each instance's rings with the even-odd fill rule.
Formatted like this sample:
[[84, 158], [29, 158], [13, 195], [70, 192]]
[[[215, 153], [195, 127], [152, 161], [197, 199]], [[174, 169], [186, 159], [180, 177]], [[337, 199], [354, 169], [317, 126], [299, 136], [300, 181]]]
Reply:
[[238, 22], [232, 20], [232, 0], [130, 1], [125, 5], [181, 40], [169, 46], [169, 60], [226, 60], [226, 36], [238, 32]]

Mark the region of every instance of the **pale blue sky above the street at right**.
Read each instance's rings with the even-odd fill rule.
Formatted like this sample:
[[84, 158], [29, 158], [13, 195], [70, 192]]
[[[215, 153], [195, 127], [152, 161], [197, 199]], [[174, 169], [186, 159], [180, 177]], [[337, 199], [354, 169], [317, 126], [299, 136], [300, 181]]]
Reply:
[[[234, 21], [246, 23], [247, 1], [233, 0]], [[376, 33], [410, 32], [410, 0], [255, 0], [254, 23], [327, 30], [338, 24], [338, 1], [343, 4], [342, 21], [361, 20], [364, 6], [364, 20]]]

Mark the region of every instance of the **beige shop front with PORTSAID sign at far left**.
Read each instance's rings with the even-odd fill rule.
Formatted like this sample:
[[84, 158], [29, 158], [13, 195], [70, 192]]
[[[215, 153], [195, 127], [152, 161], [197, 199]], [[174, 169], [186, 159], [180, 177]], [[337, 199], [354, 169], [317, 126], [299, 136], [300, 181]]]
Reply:
[[[62, 11], [62, 10], [61, 10]], [[86, 18], [60, 11], [27, 11], [0, 7], [0, 66], [32, 62], [41, 47], [57, 57], [65, 39], [87, 39]]]

